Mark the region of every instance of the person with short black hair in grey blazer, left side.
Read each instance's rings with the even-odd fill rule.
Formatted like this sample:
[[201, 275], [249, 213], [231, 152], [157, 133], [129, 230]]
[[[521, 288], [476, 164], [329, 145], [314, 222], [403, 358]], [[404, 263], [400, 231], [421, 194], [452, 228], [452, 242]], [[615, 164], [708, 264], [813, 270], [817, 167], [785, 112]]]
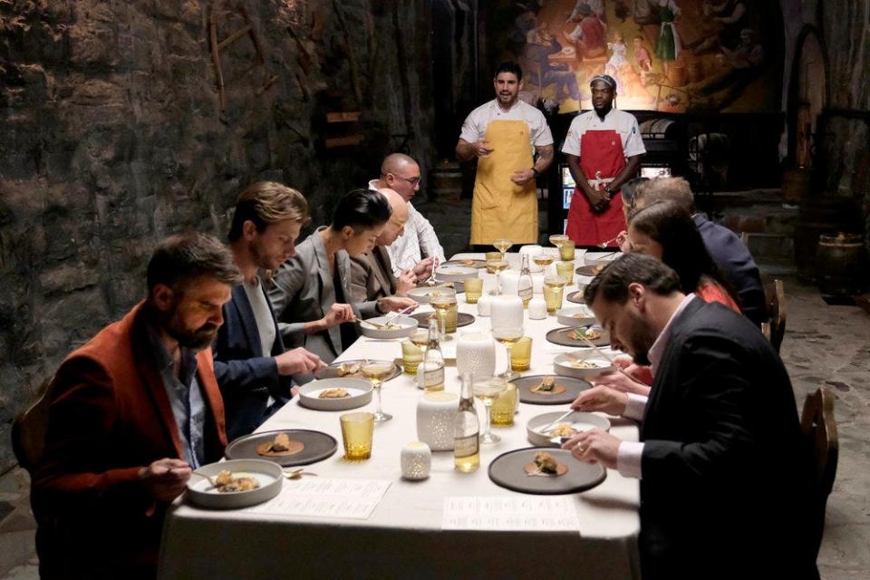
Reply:
[[[390, 204], [381, 193], [354, 189], [339, 199], [332, 224], [318, 227], [278, 269], [269, 299], [288, 348], [304, 346], [324, 362], [333, 362], [359, 336], [353, 324], [358, 318], [417, 305], [398, 296], [347, 304], [351, 256], [374, 247], [390, 215]], [[311, 375], [295, 380], [307, 382]]]

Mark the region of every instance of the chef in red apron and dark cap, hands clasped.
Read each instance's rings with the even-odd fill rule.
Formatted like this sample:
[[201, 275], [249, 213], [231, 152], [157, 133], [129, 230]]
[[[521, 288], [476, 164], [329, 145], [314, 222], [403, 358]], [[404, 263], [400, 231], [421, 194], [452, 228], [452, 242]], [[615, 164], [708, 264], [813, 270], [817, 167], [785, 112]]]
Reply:
[[616, 247], [626, 229], [619, 189], [637, 174], [646, 149], [634, 115], [614, 109], [614, 78], [600, 74], [589, 86], [594, 110], [571, 121], [562, 147], [577, 184], [565, 234], [577, 246]]

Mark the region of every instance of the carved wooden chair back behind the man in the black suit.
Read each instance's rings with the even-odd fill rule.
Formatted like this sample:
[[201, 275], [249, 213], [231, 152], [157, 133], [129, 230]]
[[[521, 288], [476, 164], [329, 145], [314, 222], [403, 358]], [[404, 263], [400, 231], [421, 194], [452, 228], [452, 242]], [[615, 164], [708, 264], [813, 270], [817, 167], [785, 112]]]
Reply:
[[821, 387], [807, 395], [800, 428], [804, 431], [807, 448], [812, 458], [812, 499], [809, 507], [812, 544], [810, 547], [815, 550], [813, 555], [815, 560], [825, 533], [827, 496], [834, 487], [836, 460], [839, 453], [834, 419], [834, 393], [830, 389]]

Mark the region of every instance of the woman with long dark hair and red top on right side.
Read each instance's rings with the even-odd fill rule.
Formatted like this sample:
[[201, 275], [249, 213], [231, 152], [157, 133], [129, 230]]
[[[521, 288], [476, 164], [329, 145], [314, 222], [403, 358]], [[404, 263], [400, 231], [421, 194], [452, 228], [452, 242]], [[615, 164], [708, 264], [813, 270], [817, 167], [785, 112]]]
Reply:
[[740, 312], [736, 295], [710, 257], [691, 216], [672, 201], [662, 201], [629, 216], [632, 251], [656, 257], [680, 276], [682, 291]]

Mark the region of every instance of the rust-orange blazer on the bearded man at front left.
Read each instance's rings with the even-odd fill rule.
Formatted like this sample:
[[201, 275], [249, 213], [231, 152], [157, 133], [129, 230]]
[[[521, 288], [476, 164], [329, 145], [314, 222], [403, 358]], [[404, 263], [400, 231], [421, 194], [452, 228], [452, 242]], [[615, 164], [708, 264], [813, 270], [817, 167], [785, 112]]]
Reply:
[[[137, 304], [71, 353], [52, 382], [32, 503], [43, 577], [150, 575], [165, 505], [139, 484], [152, 461], [182, 457], [179, 429]], [[211, 349], [197, 353], [206, 459], [227, 445]], [[74, 571], [74, 572], [73, 572]]]

